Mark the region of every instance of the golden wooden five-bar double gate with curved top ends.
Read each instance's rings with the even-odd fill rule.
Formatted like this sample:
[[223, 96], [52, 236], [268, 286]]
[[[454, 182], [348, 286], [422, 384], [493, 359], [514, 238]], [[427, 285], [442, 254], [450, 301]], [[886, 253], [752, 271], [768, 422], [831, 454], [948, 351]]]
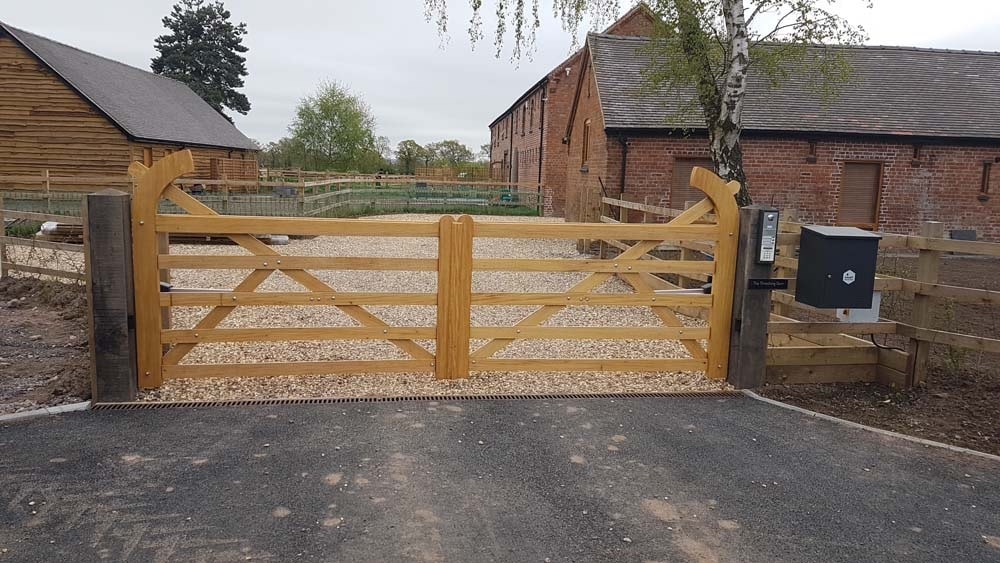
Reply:
[[[713, 379], [726, 376], [735, 275], [738, 209], [733, 185], [697, 169], [692, 185], [708, 196], [668, 224], [525, 224], [476, 223], [471, 217], [440, 221], [386, 222], [220, 216], [173, 185], [193, 170], [190, 153], [174, 153], [145, 169], [133, 165], [137, 178], [132, 202], [133, 260], [139, 381], [158, 387], [164, 379], [222, 376], [270, 376], [335, 373], [434, 372], [438, 378], [464, 378], [470, 371], [705, 371]], [[158, 213], [169, 199], [186, 215]], [[249, 251], [247, 256], [171, 255], [162, 253], [167, 233], [227, 236]], [[354, 256], [285, 256], [252, 233], [337, 237], [428, 237], [437, 239], [436, 259]], [[476, 238], [614, 239], [629, 247], [610, 260], [598, 259], [476, 259]], [[676, 241], [713, 242], [714, 260], [649, 260], [647, 253]], [[161, 292], [161, 273], [170, 269], [251, 270], [231, 290]], [[437, 273], [436, 293], [351, 293], [338, 291], [310, 270], [384, 270]], [[276, 271], [298, 282], [305, 291], [261, 292]], [[587, 274], [561, 293], [476, 293], [473, 272], [579, 272]], [[656, 274], [713, 276], [710, 294], [657, 292]], [[618, 276], [631, 294], [595, 292]], [[366, 306], [436, 306], [434, 326], [390, 326]], [[537, 306], [514, 326], [471, 326], [477, 305]], [[353, 318], [356, 327], [218, 328], [238, 307], [335, 306]], [[555, 327], [543, 324], [568, 306], [649, 307], [659, 318], [656, 327]], [[194, 328], [163, 326], [171, 307], [210, 307]], [[707, 309], [708, 326], [685, 326], [675, 309]], [[496, 354], [520, 339], [558, 340], [677, 340], [682, 358], [518, 358]], [[402, 350], [407, 359], [189, 364], [183, 360], [201, 343], [318, 340], [383, 340]], [[433, 341], [433, 351], [419, 341]], [[473, 349], [475, 341], [485, 344]]]

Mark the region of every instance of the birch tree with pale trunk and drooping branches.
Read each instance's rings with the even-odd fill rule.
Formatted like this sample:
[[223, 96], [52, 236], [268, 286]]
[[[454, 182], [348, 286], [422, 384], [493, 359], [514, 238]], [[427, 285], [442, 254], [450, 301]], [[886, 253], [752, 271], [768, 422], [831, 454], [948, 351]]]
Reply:
[[[859, 0], [869, 8], [868, 0]], [[574, 37], [589, 16], [604, 22], [620, 11], [618, 0], [553, 0], [564, 29]], [[424, 0], [428, 20], [447, 32], [447, 0]], [[645, 76], [650, 86], [693, 98], [708, 133], [709, 152], [716, 172], [741, 184], [737, 201], [751, 202], [743, 170], [743, 105], [747, 75], [757, 69], [773, 86], [793, 73], [805, 72], [825, 96], [836, 95], [849, 81], [850, 61], [836, 44], [859, 44], [867, 36], [828, 9], [831, 0], [655, 0], [649, 3], [658, 24]], [[521, 0], [497, 0], [496, 46], [499, 56], [505, 37], [513, 35], [518, 58], [534, 42], [539, 27], [538, 3], [531, 12]], [[470, 36], [481, 40], [482, 2], [472, 1]], [[796, 69], [805, 69], [799, 71]], [[692, 93], [693, 92], [693, 93]], [[683, 104], [682, 104], [683, 105]], [[684, 108], [681, 108], [683, 111]]]

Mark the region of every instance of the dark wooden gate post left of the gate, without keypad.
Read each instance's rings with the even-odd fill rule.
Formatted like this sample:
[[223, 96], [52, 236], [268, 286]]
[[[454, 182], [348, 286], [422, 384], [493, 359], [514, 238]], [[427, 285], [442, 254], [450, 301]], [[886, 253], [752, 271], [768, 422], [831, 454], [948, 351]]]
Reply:
[[88, 194], [84, 245], [90, 306], [93, 402], [133, 401], [138, 392], [129, 194]]

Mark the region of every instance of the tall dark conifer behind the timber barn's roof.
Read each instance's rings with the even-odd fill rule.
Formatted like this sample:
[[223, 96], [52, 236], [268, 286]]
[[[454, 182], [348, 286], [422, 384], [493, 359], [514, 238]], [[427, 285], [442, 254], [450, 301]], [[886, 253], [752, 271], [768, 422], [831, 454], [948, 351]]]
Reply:
[[248, 51], [243, 45], [245, 23], [234, 24], [222, 2], [181, 0], [163, 18], [169, 33], [156, 38], [159, 52], [150, 67], [153, 72], [187, 84], [210, 106], [229, 108], [246, 115], [250, 101], [238, 88], [247, 76]]

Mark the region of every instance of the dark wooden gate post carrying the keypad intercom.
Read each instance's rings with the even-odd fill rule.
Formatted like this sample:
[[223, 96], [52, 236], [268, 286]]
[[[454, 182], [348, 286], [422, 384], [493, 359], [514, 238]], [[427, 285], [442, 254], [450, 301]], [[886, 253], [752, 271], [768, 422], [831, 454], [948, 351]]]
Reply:
[[757, 241], [761, 211], [776, 209], [751, 205], [740, 209], [740, 240], [736, 254], [733, 295], [733, 325], [729, 339], [729, 373], [726, 380], [737, 389], [764, 386], [767, 366], [767, 321], [771, 316], [771, 292], [748, 289], [751, 279], [769, 279], [771, 264], [757, 263]]

